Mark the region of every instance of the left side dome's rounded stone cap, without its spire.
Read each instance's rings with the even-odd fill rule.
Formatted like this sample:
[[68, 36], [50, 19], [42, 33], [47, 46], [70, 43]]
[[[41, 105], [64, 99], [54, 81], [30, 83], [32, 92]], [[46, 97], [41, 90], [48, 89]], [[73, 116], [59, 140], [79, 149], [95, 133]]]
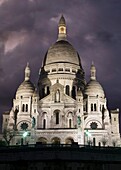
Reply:
[[34, 85], [31, 83], [30, 80], [23, 81], [19, 88], [17, 89], [16, 95], [33, 95], [35, 90]]

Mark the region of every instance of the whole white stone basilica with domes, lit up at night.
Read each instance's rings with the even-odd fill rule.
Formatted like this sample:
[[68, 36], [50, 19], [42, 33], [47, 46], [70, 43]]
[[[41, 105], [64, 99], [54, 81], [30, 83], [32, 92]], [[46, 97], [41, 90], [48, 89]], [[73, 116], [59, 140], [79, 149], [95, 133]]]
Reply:
[[[58, 24], [57, 41], [43, 58], [36, 87], [29, 63], [13, 107], [3, 113], [2, 131], [14, 132], [11, 144], [120, 145], [119, 109], [108, 110], [94, 63], [86, 82], [81, 59], [67, 40], [65, 18]], [[26, 133], [26, 135], [24, 135]]]

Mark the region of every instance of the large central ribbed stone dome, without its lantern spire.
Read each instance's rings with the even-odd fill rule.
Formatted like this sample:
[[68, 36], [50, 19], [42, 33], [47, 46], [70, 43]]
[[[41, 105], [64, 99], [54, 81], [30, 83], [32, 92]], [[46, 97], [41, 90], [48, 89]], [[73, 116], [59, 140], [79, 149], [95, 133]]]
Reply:
[[68, 41], [57, 41], [47, 51], [44, 65], [51, 63], [72, 63], [80, 65], [78, 53]]

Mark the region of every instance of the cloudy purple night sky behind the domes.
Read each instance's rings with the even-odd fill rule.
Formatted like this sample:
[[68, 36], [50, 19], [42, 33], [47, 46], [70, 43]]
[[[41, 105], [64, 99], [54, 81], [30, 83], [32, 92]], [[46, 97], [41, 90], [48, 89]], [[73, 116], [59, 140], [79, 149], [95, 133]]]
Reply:
[[10, 110], [30, 63], [36, 85], [64, 15], [86, 81], [94, 62], [109, 109], [121, 109], [121, 0], [0, 0], [0, 114]]

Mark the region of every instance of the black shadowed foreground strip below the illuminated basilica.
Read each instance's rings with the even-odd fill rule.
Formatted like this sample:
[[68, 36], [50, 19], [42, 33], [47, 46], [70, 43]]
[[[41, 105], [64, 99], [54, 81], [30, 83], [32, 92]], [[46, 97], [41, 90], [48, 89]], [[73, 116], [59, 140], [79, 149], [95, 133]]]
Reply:
[[0, 148], [0, 170], [121, 169], [121, 148], [29, 145]]

